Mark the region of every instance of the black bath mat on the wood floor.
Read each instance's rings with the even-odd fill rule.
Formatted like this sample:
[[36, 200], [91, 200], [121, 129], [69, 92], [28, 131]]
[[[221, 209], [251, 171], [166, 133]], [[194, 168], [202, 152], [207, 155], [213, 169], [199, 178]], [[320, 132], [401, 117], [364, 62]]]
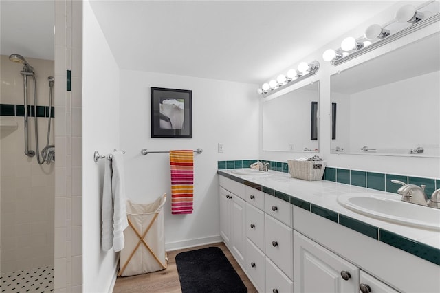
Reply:
[[245, 284], [218, 247], [208, 247], [176, 255], [182, 293], [248, 292]]

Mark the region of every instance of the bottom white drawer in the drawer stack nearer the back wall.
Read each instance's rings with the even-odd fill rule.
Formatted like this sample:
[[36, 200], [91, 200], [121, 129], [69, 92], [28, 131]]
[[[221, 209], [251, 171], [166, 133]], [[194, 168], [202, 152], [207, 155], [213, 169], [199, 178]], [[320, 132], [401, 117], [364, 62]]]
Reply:
[[252, 241], [246, 239], [245, 270], [259, 292], [265, 289], [265, 255]]

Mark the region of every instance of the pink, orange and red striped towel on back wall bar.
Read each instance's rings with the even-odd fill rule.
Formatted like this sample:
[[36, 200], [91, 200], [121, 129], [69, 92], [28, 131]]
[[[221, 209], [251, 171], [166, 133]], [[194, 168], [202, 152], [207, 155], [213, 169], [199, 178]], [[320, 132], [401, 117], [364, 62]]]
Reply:
[[170, 151], [171, 213], [192, 214], [194, 152]]

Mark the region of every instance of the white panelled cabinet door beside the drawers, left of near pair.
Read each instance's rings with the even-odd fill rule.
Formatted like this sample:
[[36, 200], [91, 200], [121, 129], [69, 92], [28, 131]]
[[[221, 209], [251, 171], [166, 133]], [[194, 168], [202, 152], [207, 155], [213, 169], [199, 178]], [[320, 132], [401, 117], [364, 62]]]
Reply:
[[295, 292], [359, 292], [359, 268], [296, 231], [294, 259]]

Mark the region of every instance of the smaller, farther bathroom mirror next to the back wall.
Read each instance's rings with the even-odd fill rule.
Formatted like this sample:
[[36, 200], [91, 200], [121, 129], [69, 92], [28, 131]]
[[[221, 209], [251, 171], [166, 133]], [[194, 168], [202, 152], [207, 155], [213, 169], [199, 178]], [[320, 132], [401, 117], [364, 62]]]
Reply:
[[318, 152], [319, 82], [263, 101], [263, 151]]

